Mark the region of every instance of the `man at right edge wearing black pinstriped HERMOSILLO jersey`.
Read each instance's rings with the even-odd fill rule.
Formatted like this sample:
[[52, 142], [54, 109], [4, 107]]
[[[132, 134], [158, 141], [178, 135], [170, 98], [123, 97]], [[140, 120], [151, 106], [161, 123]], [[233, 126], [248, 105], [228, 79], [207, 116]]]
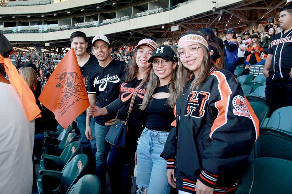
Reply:
[[263, 73], [266, 81], [266, 104], [270, 114], [278, 108], [292, 106], [292, 6], [280, 9], [283, 29], [272, 37]]

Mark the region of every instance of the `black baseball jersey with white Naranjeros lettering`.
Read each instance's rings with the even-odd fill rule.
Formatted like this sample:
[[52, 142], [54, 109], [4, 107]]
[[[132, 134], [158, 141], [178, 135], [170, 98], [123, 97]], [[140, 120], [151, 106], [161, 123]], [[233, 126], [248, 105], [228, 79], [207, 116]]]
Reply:
[[[96, 65], [88, 74], [88, 94], [96, 95], [96, 105], [100, 108], [109, 105], [119, 97], [119, 86], [126, 63], [112, 60], [106, 67]], [[104, 125], [107, 120], [115, 118], [117, 113], [95, 117], [94, 120]]]

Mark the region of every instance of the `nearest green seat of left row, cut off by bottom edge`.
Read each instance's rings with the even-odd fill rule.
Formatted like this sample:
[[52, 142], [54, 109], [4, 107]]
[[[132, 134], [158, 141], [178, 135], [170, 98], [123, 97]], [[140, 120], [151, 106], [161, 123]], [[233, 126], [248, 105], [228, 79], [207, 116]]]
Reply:
[[72, 187], [67, 191], [67, 194], [100, 194], [101, 193], [101, 183], [97, 176], [95, 175], [84, 175], [79, 179], [79, 181], [72, 185]]

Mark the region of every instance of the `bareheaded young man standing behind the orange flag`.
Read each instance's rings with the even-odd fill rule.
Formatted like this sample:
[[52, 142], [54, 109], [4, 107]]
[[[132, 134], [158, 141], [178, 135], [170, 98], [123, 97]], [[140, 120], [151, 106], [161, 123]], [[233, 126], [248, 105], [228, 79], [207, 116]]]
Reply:
[[[96, 65], [98, 65], [98, 60], [95, 56], [90, 55], [86, 52], [88, 43], [86, 34], [81, 31], [73, 32], [70, 36], [71, 40], [71, 48], [74, 49], [78, 65], [81, 70], [81, 74], [84, 80], [85, 87], [88, 85], [88, 73], [89, 70], [93, 69]], [[95, 172], [95, 154], [96, 154], [96, 142], [95, 138], [92, 140], [88, 140], [85, 136], [85, 124], [86, 124], [86, 111], [81, 113], [77, 117], [77, 127], [81, 134], [81, 146], [83, 153], [88, 155], [89, 158], [89, 172]], [[90, 122], [91, 127], [94, 129], [94, 119]], [[94, 130], [93, 130], [94, 133]]]

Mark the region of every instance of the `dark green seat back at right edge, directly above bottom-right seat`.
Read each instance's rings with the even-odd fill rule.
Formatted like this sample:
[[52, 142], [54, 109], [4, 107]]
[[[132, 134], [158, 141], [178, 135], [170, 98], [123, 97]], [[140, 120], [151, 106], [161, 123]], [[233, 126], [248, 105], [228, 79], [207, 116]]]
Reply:
[[292, 133], [272, 127], [260, 127], [255, 158], [272, 157], [292, 161]]

